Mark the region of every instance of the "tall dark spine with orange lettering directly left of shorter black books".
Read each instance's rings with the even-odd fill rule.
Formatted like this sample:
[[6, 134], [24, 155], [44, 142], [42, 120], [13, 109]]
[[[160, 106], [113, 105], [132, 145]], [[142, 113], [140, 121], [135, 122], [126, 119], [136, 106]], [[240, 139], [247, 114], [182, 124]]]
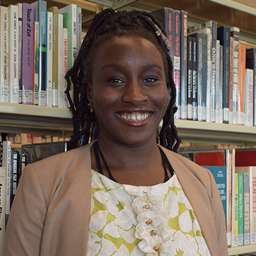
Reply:
[[187, 118], [188, 13], [180, 11], [180, 119]]

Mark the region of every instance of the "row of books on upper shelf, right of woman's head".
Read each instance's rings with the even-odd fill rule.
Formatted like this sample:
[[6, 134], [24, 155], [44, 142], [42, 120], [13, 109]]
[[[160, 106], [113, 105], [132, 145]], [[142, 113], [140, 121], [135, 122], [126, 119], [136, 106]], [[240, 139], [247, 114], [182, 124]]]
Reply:
[[188, 28], [188, 13], [152, 12], [173, 49], [176, 119], [256, 126], [256, 48], [239, 42], [239, 28], [210, 20]]

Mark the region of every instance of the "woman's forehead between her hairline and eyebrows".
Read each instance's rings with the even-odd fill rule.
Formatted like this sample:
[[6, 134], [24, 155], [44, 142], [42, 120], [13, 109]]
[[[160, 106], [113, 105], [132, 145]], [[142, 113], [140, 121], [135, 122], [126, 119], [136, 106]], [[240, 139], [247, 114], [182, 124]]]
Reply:
[[[94, 64], [155, 63], [164, 67], [163, 56], [156, 45], [140, 36], [115, 36], [100, 44]], [[94, 66], [94, 65], [93, 65]]]

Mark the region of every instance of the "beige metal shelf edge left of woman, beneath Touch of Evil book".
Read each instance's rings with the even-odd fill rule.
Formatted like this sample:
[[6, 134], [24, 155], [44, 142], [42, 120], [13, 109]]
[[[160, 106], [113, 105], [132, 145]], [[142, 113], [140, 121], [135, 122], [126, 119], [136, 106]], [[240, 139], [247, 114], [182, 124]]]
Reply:
[[69, 109], [0, 103], [0, 132], [69, 136], [72, 131]]

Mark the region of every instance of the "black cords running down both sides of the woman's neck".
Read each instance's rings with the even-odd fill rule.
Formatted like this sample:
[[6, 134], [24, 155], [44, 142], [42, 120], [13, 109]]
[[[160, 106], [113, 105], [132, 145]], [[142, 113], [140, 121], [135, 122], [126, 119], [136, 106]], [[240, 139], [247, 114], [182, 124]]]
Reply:
[[[172, 176], [173, 176], [174, 172], [173, 172], [173, 168], [172, 168], [168, 158], [164, 154], [163, 150], [159, 146], [158, 146], [158, 148], [159, 148], [159, 151], [161, 153], [161, 158], [162, 158], [162, 162], [163, 162], [163, 166], [164, 166], [164, 182], [166, 182], [168, 179], [170, 179], [169, 176], [168, 176], [166, 164], [167, 164], [168, 169], [170, 170], [170, 173], [171, 173]], [[105, 164], [106, 170], [108, 172], [109, 179], [117, 182], [115, 180], [115, 178], [112, 176], [112, 174], [111, 174], [111, 172], [110, 172], [110, 170], [108, 168], [108, 164], [106, 163], [106, 160], [105, 160], [105, 158], [104, 158], [104, 156], [103, 156], [103, 154], [102, 154], [102, 152], [100, 150], [98, 141], [95, 141], [93, 143], [93, 152], [95, 154], [95, 159], [96, 159], [97, 168], [98, 168], [99, 173], [103, 175], [102, 166], [101, 166], [101, 163], [100, 163], [100, 157], [101, 157], [103, 163]]]

